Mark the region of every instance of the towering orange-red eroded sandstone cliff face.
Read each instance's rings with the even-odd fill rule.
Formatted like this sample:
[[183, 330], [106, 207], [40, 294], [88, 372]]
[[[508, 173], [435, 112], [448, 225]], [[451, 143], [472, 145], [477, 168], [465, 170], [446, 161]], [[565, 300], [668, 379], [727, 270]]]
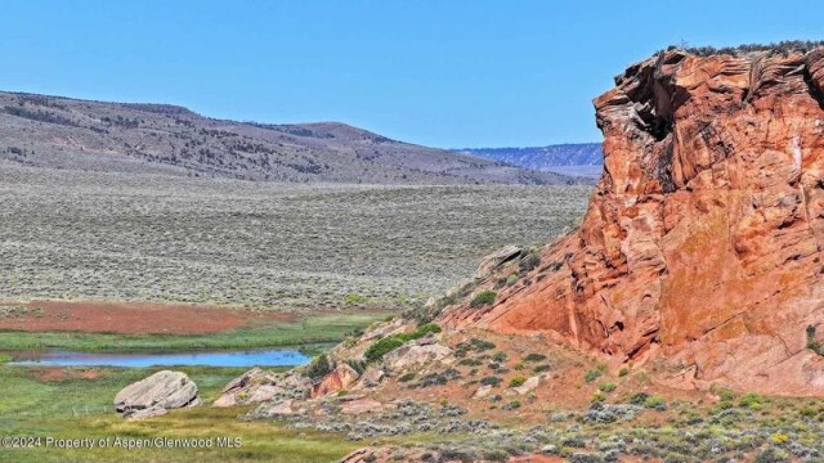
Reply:
[[[595, 101], [604, 174], [536, 283], [452, 328], [546, 332], [681, 381], [824, 395], [824, 50], [670, 50]], [[824, 326], [819, 330], [824, 332]]]

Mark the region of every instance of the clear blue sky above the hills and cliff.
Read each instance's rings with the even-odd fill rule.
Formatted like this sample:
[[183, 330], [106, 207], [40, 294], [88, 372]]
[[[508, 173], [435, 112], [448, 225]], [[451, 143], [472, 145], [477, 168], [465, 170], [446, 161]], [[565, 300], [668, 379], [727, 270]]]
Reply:
[[821, 0], [6, 0], [0, 12], [3, 90], [338, 120], [438, 147], [600, 141], [592, 98], [656, 49], [824, 38]]

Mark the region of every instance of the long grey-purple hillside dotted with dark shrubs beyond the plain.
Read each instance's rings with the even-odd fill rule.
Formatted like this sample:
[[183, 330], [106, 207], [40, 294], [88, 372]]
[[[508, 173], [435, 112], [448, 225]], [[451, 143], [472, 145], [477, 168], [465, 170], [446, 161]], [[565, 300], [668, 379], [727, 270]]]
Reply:
[[[345, 124], [209, 119], [173, 105], [0, 92], [0, 160], [246, 180], [440, 185], [576, 180], [401, 143]], [[588, 182], [588, 180], [583, 180]]]

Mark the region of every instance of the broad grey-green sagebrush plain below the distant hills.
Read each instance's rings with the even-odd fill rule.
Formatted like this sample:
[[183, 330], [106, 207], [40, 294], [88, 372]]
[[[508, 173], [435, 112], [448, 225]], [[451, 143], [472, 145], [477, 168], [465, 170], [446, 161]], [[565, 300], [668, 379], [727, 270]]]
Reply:
[[0, 162], [0, 298], [403, 306], [510, 243], [574, 227], [590, 187], [283, 185]]

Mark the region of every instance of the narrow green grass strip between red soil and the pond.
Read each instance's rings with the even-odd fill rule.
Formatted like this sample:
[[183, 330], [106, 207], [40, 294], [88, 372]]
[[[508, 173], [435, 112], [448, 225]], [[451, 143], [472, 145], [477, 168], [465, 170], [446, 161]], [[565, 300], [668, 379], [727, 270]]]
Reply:
[[0, 331], [0, 350], [59, 348], [86, 351], [171, 351], [311, 346], [339, 342], [352, 331], [385, 316], [382, 313], [307, 316], [295, 323], [271, 323], [254, 329], [190, 335]]

